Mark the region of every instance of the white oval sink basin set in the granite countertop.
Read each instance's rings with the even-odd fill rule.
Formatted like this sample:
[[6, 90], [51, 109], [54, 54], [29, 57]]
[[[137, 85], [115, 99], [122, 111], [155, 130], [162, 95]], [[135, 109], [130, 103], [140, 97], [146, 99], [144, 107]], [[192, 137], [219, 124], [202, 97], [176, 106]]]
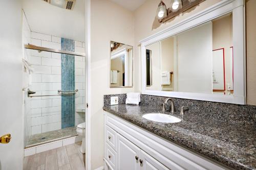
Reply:
[[181, 122], [181, 119], [175, 116], [171, 116], [168, 114], [162, 114], [162, 113], [148, 113], [144, 114], [142, 117], [152, 120], [155, 122], [161, 122], [161, 123], [177, 123]]

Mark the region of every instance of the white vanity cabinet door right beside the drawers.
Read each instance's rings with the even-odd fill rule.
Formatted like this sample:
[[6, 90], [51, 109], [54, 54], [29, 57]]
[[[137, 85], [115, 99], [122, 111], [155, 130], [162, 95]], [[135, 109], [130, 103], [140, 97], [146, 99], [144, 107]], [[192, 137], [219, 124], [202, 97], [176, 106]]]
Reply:
[[117, 169], [139, 170], [140, 149], [135, 144], [117, 134]]

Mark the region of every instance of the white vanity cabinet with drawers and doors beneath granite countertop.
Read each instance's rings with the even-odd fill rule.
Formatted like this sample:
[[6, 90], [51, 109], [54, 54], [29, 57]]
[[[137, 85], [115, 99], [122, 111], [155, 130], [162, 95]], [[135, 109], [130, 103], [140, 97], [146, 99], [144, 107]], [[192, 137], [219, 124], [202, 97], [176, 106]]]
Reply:
[[104, 169], [229, 169], [104, 111]]

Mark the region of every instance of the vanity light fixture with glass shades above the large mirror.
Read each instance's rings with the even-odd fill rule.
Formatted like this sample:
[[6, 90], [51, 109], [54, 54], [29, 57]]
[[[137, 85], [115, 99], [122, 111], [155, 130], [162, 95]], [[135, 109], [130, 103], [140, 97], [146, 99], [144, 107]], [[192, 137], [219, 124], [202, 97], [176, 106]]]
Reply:
[[166, 22], [167, 20], [199, 5], [204, 1], [205, 0], [171, 0], [170, 7], [168, 9], [166, 9], [165, 4], [161, 1], [157, 8], [156, 17], [159, 22]]

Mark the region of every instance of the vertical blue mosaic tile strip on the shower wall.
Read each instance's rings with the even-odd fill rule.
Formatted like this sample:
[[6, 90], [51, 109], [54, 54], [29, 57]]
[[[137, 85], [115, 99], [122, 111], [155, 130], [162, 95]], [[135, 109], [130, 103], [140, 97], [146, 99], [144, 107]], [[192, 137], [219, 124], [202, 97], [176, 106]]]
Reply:
[[[75, 51], [75, 41], [61, 38], [61, 50]], [[61, 90], [75, 90], [75, 56], [61, 54]], [[61, 128], [75, 126], [75, 95], [61, 96]]]

